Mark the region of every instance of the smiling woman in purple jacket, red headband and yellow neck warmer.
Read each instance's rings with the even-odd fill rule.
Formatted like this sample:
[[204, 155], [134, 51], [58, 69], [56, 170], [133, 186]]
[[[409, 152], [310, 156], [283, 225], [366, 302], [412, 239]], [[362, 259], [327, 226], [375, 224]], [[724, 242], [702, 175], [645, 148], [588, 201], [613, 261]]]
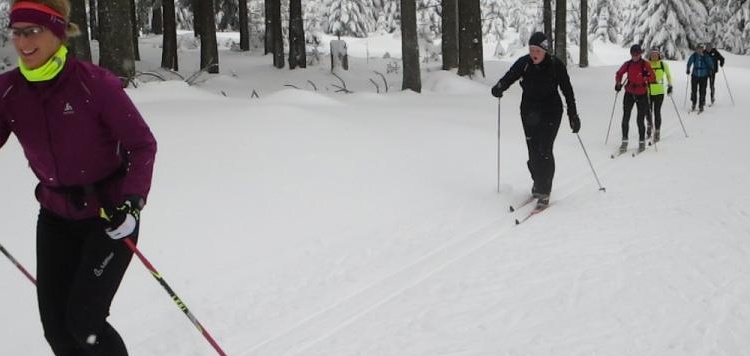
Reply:
[[127, 355], [106, 321], [132, 257], [156, 141], [120, 80], [68, 55], [69, 0], [14, 0], [18, 68], [0, 75], [0, 147], [13, 133], [39, 179], [37, 297], [57, 356]]

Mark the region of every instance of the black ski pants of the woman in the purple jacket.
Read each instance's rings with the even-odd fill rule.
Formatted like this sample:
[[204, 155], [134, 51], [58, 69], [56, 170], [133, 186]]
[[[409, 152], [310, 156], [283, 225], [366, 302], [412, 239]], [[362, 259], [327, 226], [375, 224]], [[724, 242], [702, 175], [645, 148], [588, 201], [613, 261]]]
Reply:
[[127, 356], [106, 319], [132, 256], [124, 242], [106, 235], [100, 219], [69, 220], [40, 210], [37, 298], [56, 356]]

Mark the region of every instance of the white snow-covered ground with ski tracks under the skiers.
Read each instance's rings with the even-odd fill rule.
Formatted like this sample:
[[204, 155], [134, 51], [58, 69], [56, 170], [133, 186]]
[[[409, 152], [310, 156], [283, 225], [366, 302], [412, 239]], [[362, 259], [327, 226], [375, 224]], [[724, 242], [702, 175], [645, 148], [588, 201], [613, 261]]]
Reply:
[[[141, 70], [157, 66], [159, 42], [142, 41]], [[341, 74], [354, 94], [336, 92], [325, 58], [290, 71], [230, 51], [195, 86], [128, 89], [159, 141], [139, 246], [227, 354], [750, 350], [750, 58], [726, 55], [735, 105], [720, 77], [700, 116], [683, 106], [685, 63], [671, 62], [689, 137], [667, 101], [658, 147], [613, 160], [613, 78], [628, 54], [595, 44], [592, 66], [569, 70], [606, 192], [564, 121], [552, 206], [515, 226], [524, 211], [508, 206], [531, 186], [521, 91], [498, 104], [489, 85], [520, 54], [475, 80], [424, 64], [415, 94], [382, 58], [399, 56], [398, 39], [366, 41], [370, 58], [360, 42]], [[184, 74], [197, 63], [180, 52]], [[0, 167], [0, 243], [33, 271], [35, 179], [15, 139]], [[7, 261], [0, 285], [0, 354], [50, 355], [33, 286]], [[215, 354], [137, 260], [111, 314], [131, 355]]]

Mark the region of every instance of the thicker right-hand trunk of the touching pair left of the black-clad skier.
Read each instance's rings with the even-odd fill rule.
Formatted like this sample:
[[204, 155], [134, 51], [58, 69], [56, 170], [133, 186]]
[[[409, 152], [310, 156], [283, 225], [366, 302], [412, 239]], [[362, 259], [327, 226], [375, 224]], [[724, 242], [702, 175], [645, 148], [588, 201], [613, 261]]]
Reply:
[[458, 2], [458, 75], [473, 76], [477, 70], [484, 77], [482, 57], [482, 12], [479, 0]]

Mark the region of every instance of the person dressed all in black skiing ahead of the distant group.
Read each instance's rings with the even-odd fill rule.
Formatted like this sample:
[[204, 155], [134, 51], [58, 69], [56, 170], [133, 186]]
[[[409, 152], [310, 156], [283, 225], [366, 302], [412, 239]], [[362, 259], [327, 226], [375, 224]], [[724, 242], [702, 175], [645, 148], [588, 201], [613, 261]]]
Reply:
[[531, 193], [537, 198], [538, 206], [549, 204], [555, 175], [552, 149], [563, 113], [558, 88], [565, 96], [570, 128], [573, 133], [581, 128], [568, 71], [548, 51], [547, 37], [541, 32], [534, 33], [529, 38], [529, 54], [519, 58], [492, 87], [492, 95], [501, 98], [508, 87], [521, 79], [521, 121], [529, 151], [527, 165], [534, 181]]

